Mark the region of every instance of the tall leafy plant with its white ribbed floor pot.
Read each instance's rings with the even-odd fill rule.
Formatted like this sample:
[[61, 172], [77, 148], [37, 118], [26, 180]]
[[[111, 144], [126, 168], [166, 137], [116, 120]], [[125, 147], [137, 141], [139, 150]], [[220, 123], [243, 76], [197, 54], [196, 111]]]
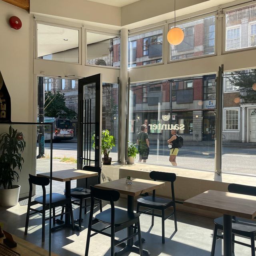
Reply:
[[24, 159], [21, 153], [26, 142], [22, 132], [14, 130], [12, 126], [8, 132], [0, 134], [0, 205], [4, 207], [18, 204], [20, 186], [13, 185], [18, 181]]

